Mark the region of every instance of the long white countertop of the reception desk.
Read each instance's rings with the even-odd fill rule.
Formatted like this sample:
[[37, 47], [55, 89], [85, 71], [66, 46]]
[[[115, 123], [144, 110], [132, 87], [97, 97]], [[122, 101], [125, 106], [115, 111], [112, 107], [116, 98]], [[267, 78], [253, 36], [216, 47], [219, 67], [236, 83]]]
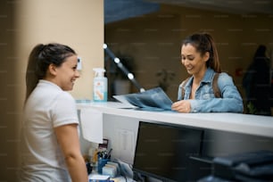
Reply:
[[78, 109], [91, 107], [105, 114], [185, 125], [197, 128], [218, 129], [254, 136], [273, 137], [273, 117], [239, 113], [178, 113], [137, 111], [116, 102], [77, 103]]

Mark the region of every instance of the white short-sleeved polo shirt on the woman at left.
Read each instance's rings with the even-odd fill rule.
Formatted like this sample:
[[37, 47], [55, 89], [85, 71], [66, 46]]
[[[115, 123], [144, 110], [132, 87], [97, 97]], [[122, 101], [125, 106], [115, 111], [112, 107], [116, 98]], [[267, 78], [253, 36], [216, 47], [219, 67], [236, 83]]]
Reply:
[[75, 100], [54, 83], [39, 80], [24, 112], [21, 181], [70, 181], [54, 128], [79, 124]]

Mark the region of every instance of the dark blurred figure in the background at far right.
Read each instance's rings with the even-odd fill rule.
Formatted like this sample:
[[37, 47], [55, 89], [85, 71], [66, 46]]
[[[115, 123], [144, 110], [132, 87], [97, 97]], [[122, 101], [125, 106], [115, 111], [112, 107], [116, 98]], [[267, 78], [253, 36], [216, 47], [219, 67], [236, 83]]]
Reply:
[[243, 87], [246, 94], [246, 113], [271, 115], [270, 110], [270, 59], [267, 47], [259, 45], [248, 70], [244, 74]]

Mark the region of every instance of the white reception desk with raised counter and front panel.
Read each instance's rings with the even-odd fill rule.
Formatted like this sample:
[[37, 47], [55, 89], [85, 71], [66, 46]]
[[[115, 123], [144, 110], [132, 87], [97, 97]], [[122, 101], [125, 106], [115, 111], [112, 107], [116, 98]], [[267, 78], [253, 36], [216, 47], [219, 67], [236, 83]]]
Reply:
[[134, 160], [139, 121], [203, 128], [204, 156], [273, 151], [273, 117], [239, 113], [139, 111], [115, 102], [78, 103], [78, 109], [83, 108], [103, 113], [103, 137], [110, 140], [112, 157], [128, 163]]

